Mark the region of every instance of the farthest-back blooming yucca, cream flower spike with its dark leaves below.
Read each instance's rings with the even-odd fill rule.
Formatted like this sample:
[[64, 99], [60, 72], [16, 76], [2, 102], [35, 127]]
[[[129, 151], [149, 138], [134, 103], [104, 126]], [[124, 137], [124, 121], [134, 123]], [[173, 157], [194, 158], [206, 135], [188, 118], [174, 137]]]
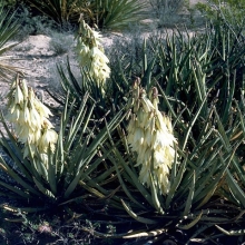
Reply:
[[102, 117], [109, 109], [115, 112], [118, 108], [116, 109], [114, 101], [111, 101], [115, 95], [112, 95], [112, 85], [108, 79], [110, 76], [109, 59], [101, 46], [100, 33], [91, 29], [84, 20], [80, 20], [76, 41], [80, 78], [75, 77], [68, 58], [66, 70], [62, 66], [57, 66], [63, 92], [59, 96], [53, 95], [51, 91], [48, 92], [60, 105], [65, 104], [66, 94], [69, 92], [70, 101], [75, 99], [75, 106], [79, 107], [80, 98], [88, 91], [97, 101], [99, 108], [95, 111], [97, 118]]

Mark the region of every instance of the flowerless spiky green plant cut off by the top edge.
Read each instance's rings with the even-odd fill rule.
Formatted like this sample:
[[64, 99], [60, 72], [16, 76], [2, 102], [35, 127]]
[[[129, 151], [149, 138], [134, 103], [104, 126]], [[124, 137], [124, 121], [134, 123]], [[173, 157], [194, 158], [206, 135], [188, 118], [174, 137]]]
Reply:
[[29, 3], [61, 24], [77, 23], [82, 14], [85, 21], [91, 27], [97, 24], [106, 29], [122, 29], [140, 20], [146, 6], [138, 0], [31, 0]]

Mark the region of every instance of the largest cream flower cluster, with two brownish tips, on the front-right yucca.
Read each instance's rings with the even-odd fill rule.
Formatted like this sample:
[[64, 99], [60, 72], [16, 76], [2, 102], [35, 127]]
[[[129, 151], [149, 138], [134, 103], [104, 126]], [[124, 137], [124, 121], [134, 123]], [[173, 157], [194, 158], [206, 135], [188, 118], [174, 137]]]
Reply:
[[173, 135], [170, 119], [158, 110], [158, 92], [153, 88], [147, 98], [139, 81], [133, 88], [134, 114], [127, 131], [128, 143], [137, 153], [136, 166], [141, 166], [139, 180], [150, 186], [150, 173], [159, 194], [169, 192], [169, 169], [174, 163], [177, 143]]

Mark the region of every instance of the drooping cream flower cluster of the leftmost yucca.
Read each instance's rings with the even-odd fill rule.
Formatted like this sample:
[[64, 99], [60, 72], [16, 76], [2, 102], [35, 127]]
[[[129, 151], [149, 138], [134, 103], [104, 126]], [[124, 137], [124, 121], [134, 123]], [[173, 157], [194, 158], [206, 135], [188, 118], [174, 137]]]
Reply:
[[7, 120], [12, 122], [18, 140], [24, 144], [24, 157], [29, 154], [33, 156], [37, 151], [40, 155], [47, 154], [49, 145], [55, 150], [58, 135], [47, 119], [52, 114], [19, 76], [8, 94], [8, 109]]

